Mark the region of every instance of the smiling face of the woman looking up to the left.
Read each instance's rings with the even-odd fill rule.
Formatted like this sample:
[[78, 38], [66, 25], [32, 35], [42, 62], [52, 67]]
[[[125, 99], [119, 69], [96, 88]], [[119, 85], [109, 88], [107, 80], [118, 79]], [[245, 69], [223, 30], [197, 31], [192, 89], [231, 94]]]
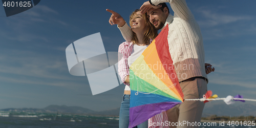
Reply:
[[135, 33], [144, 32], [146, 30], [146, 23], [140, 11], [136, 12], [133, 15], [133, 18], [130, 21], [130, 25], [133, 32]]

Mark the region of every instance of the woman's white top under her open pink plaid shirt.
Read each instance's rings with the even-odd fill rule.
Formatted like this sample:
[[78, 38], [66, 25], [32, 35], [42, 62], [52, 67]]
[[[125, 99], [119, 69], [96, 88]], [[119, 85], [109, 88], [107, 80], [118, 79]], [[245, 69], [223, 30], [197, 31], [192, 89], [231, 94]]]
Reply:
[[[147, 48], [148, 45], [145, 46], [138, 46], [136, 44], [134, 44], [132, 46], [132, 52], [131, 55], [128, 57], [127, 62], [128, 62], [128, 66], [130, 67], [133, 62], [144, 52], [144, 50]], [[124, 88], [125, 91], [131, 91], [130, 86], [125, 86]]]

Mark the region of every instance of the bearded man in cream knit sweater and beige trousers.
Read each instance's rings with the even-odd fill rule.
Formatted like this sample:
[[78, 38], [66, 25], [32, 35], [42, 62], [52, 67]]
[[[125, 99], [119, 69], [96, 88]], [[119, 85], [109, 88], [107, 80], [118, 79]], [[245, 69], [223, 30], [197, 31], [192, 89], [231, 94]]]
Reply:
[[[168, 2], [174, 11], [169, 14]], [[147, 12], [147, 17], [156, 29], [168, 25], [169, 52], [173, 59], [175, 71], [180, 82], [184, 99], [202, 98], [207, 92], [207, 75], [214, 71], [210, 67], [205, 70], [207, 63], [204, 59], [202, 34], [194, 15], [186, 5], [185, 0], [152, 0], [141, 6], [141, 13]], [[113, 14], [113, 13], [112, 13]], [[120, 15], [114, 15], [110, 23], [118, 22]], [[117, 23], [118, 24], [118, 23]], [[131, 40], [131, 29], [127, 24], [118, 24], [126, 41]], [[167, 111], [168, 120], [172, 122], [186, 121], [185, 125], [177, 127], [199, 127], [191, 123], [201, 120], [204, 103], [201, 101], [184, 101]], [[190, 123], [190, 124], [189, 124]], [[173, 127], [173, 126], [170, 126]], [[174, 126], [176, 127], [176, 126]]]

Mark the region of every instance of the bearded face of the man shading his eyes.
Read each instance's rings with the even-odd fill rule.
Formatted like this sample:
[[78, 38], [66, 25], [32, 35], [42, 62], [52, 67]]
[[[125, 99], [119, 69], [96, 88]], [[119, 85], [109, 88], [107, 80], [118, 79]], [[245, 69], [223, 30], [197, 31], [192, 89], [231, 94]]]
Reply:
[[148, 10], [147, 17], [150, 19], [150, 23], [153, 24], [157, 30], [164, 26], [165, 20], [167, 18], [166, 14], [160, 8], [152, 8]]

